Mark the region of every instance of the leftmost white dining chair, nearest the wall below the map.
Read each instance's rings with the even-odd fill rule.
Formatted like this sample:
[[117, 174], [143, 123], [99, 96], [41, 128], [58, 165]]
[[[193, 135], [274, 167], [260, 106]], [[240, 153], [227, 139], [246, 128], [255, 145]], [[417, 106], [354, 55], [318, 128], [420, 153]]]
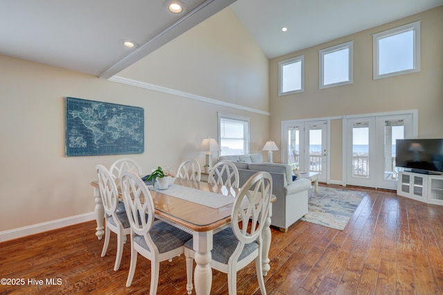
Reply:
[[96, 166], [98, 187], [100, 197], [102, 198], [103, 208], [105, 209], [105, 243], [102, 249], [102, 257], [106, 255], [109, 246], [109, 236], [111, 231], [117, 234], [117, 256], [114, 270], [120, 267], [120, 261], [123, 255], [123, 244], [126, 241], [126, 235], [131, 233], [131, 227], [126, 215], [126, 211], [118, 210], [118, 191], [117, 185], [111, 173], [102, 164]]

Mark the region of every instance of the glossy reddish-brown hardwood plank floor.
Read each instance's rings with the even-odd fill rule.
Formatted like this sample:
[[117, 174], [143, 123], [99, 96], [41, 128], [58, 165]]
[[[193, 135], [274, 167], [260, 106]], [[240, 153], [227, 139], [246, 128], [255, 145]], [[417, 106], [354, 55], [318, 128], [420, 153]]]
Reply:
[[[267, 294], [443, 294], [443, 207], [354, 189], [367, 196], [343, 231], [300, 220], [287, 233], [272, 229]], [[2, 284], [0, 294], [149, 294], [149, 260], [138, 257], [125, 287], [129, 242], [114, 272], [116, 235], [101, 258], [95, 228], [84, 222], [0, 243], [1, 278], [23, 283]], [[186, 294], [184, 256], [160, 265], [158, 294]], [[253, 263], [237, 285], [238, 294], [260, 294]], [[227, 293], [226, 275], [213, 271], [211, 294]]]

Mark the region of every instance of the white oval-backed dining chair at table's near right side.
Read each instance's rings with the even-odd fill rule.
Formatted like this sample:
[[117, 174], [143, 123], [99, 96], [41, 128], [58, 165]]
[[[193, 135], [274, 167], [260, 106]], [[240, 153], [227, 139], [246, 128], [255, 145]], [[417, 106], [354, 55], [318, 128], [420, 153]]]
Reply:
[[[210, 267], [228, 274], [229, 294], [237, 294], [237, 271], [255, 260], [260, 292], [266, 294], [262, 271], [262, 229], [271, 202], [272, 178], [257, 172], [249, 178], [235, 198], [230, 214], [231, 226], [213, 236]], [[245, 204], [246, 203], [246, 204]], [[194, 240], [185, 244], [188, 294], [192, 293]]]

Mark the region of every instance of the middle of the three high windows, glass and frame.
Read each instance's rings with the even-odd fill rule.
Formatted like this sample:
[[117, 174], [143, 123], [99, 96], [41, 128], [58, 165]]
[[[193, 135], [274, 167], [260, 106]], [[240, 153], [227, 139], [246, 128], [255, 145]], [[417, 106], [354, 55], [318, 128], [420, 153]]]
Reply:
[[352, 84], [353, 41], [318, 51], [320, 89]]

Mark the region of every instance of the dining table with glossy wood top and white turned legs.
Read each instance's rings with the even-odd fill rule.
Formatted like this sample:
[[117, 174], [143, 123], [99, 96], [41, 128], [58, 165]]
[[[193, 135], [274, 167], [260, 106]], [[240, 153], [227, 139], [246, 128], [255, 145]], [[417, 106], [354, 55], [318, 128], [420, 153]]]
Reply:
[[[105, 233], [103, 230], [105, 211], [100, 198], [98, 182], [93, 181], [91, 185], [94, 187], [96, 202], [96, 236], [100, 240]], [[210, 267], [213, 235], [230, 225], [230, 213], [235, 195], [239, 192], [239, 189], [178, 178], [172, 184], [171, 189], [153, 189], [152, 185], [148, 186], [148, 188], [150, 188], [150, 193], [154, 200], [156, 218], [192, 234], [194, 238], [194, 259], [197, 264], [194, 272], [195, 292], [197, 295], [209, 295], [213, 280], [213, 273]], [[194, 194], [190, 193], [189, 189], [195, 190], [195, 195], [197, 196], [195, 199], [192, 199]], [[170, 194], [168, 194], [168, 190]], [[180, 196], [181, 194], [183, 196]], [[201, 199], [205, 195], [217, 198], [217, 201], [213, 202], [217, 204], [208, 204], [207, 200], [201, 202], [199, 198]], [[223, 200], [225, 198], [226, 202]], [[268, 216], [262, 231], [262, 269], [264, 276], [271, 268], [268, 257], [269, 248], [271, 247], [271, 229], [269, 226], [271, 225], [272, 202], [274, 201], [275, 196], [272, 196], [271, 206], [269, 207]]]

